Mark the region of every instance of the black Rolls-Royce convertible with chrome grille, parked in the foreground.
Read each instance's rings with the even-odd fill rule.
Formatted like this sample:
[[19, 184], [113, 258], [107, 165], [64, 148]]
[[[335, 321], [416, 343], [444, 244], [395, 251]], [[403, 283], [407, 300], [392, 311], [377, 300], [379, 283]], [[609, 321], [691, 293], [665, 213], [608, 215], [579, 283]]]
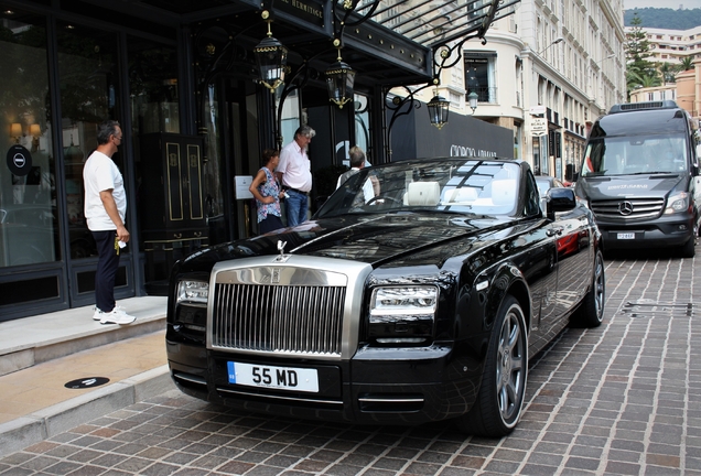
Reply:
[[604, 281], [571, 188], [540, 197], [515, 160], [399, 161], [306, 223], [179, 261], [168, 360], [182, 391], [223, 405], [502, 436], [529, 357], [601, 324]]

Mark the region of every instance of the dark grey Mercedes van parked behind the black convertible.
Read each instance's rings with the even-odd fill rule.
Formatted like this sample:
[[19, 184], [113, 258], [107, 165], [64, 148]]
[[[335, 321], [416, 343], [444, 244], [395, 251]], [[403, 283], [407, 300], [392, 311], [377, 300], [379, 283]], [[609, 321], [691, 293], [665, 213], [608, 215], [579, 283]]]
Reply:
[[604, 250], [675, 247], [694, 256], [701, 212], [698, 121], [672, 100], [619, 104], [586, 141], [575, 185]]

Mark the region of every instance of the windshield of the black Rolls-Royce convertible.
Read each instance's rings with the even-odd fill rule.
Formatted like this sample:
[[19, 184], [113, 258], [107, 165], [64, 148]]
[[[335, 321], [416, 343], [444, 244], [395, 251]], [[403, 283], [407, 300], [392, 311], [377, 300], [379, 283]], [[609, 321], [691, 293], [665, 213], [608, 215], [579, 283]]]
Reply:
[[317, 218], [345, 214], [444, 212], [510, 215], [520, 166], [479, 159], [400, 161], [362, 169], [336, 190]]

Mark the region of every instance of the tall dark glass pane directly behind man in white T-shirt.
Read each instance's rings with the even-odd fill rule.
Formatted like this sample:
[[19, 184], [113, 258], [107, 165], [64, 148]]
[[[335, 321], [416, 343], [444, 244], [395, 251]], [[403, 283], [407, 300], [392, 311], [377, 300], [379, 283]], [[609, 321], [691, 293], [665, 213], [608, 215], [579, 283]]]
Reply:
[[[63, 22], [56, 36], [71, 257], [87, 258], [97, 250], [83, 214], [83, 165], [97, 147], [97, 126], [118, 119], [117, 36]], [[123, 151], [112, 160], [123, 174]]]

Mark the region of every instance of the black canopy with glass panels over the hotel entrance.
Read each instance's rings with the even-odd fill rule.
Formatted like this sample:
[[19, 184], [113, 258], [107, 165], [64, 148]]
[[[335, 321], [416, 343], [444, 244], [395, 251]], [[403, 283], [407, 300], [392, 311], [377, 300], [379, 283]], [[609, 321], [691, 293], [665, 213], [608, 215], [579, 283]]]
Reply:
[[[31, 4], [22, 0], [4, 1], [18, 7]], [[111, 21], [154, 37], [172, 40], [181, 25], [187, 25], [195, 36], [207, 30], [203, 37], [206, 41], [198, 41], [197, 47], [212, 47], [215, 55], [219, 52], [236, 55], [250, 52], [265, 37], [266, 24], [260, 12], [269, 8], [272, 32], [290, 51], [289, 64], [299, 66], [309, 62], [316, 73], [323, 74], [337, 57], [332, 40], [337, 35], [339, 22], [334, 14], [343, 14], [346, 8], [355, 6], [343, 29], [342, 54], [357, 72], [356, 88], [371, 90], [376, 86], [431, 80], [436, 73], [439, 48], [460, 50], [455, 45], [464, 40], [484, 37], [492, 22], [513, 13], [519, 1], [66, 0], [61, 2], [61, 9], [76, 18]], [[207, 55], [205, 60], [209, 60]], [[233, 64], [233, 60], [236, 58], [227, 56], [217, 64], [224, 67]]]

